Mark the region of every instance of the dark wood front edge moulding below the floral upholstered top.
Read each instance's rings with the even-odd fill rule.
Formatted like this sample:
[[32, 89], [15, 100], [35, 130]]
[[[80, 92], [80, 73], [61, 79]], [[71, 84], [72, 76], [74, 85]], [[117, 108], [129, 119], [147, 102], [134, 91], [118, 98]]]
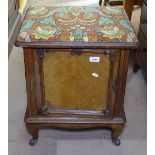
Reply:
[[28, 47], [28, 48], [49, 48], [49, 49], [137, 49], [139, 43], [71, 43], [71, 42], [18, 42], [15, 45], [18, 47]]

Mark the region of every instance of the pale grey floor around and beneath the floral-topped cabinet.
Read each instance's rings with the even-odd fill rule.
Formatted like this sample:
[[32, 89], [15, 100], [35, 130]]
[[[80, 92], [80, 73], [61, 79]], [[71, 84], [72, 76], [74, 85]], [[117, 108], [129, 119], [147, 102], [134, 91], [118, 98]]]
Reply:
[[[41, 0], [28, 2], [28, 5], [41, 4]], [[77, 0], [76, 2], [78, 5]], [[95, 3], [97, 5], [98, 1], [94, 0], [94, 5]], [[135, 8], [132, 24], [136, 32], [139, 15], [140, 9]], [[120, 136], [119, 147], [111, 143], [110, 131], [101, 129], [80, 132], [40, 130], [38, 143], [34, 147], [29, 146], [31, 136], [23, 121], [26, 89], [22, 51], [21, 48], [14, 47], [9, 58], [9, 155], [146, 155], [146, 83], [141, 70], [137, 74], [132, 72], [132, 61], [129, 65], [125, 95], [127, 123]]]

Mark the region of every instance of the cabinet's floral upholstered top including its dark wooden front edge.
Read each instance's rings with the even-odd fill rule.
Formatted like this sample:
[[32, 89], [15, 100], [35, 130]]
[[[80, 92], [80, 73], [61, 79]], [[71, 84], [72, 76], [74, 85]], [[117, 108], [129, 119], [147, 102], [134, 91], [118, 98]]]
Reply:
[[31, 7], [16, 46], [37, 48], [137, 48], [138, 40], [120, 7]]

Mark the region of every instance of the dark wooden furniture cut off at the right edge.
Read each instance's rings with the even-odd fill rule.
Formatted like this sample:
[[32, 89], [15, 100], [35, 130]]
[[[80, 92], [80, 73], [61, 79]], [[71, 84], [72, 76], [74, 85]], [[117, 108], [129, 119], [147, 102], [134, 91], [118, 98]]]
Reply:
[[144, 0], [141, 19], [139, 25], [138, 39], [141, 43], [140, 49], [136, 53], [136, 60], [133, 71], [137, 72], [142, 69], [145, 80], [147, 81], [147, 1]]

